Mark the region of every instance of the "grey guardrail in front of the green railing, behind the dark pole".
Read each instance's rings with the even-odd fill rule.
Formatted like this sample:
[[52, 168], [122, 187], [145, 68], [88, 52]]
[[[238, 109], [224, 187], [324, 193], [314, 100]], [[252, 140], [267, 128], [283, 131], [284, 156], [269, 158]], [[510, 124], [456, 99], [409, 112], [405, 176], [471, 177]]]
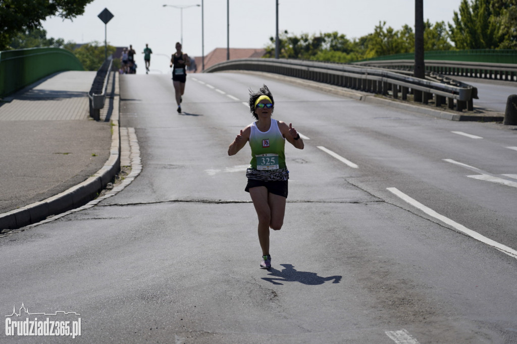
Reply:
[[[379, 60], [353, 62], [353, 65], [384, 67], [390, 69], [413, 70], [415, 60]], [[517, 81], [517, 64], [498, 64], [488, 62], [464, 62], [425, 60], [425, 70], [442, 75], [477, 77], [479, 79], [494, 79]]]

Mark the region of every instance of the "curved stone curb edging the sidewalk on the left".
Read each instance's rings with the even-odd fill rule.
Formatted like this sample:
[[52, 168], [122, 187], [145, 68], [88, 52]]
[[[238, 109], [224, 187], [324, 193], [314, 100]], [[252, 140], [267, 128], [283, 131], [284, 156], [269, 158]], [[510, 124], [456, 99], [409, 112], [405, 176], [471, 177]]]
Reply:
[[[18, 229], [53, 215], [81, 207], [95, 199], [104, 187], [113, 180], [120, 170], [120, 126], [119, 126], [119, 79], [118, 73], [113, 72], [115, 92], [113, 95], [113, 112], [110, 117], [112, 128], [110, 157], [92, 177], [70, 189], [51, 196], [47, 199], [29, 204], [7, 213], [0, 214], [0, 231], [3, 229]], [[106, 98], [110, 102], [111, 98]], [[104, 106], [107, 109], [108, 106]]]

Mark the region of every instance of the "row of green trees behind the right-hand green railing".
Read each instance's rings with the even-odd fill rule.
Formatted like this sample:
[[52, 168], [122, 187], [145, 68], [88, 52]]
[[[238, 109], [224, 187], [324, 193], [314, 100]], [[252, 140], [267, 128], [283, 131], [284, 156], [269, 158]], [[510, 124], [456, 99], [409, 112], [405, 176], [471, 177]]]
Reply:
[[[275, 38], [269, 40], [264, 57], [275, 56]], [[415, 51], [413, 28], [404, 25], [396, 30], [386, 22], [379, 22], [373, 33], [352, 40], [337, 32], [296, 36], [287, 30], [279, 40], [281, 58], [318, 61], [351, 62]], [[517, 49], [517, 0], [462, 0], [459, 12], [454, 11], [453, 24], [427, 20], [424, 51], [452, 49]]]

